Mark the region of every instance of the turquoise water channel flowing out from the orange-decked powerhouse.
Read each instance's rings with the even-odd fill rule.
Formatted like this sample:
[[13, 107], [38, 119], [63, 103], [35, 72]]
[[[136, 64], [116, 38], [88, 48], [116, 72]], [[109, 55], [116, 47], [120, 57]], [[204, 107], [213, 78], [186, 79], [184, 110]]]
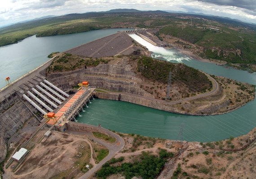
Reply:
[[218, 141], [230, 136], [241, 136], [256, 126], [256, 102], [234, 112], [214, 116], [178, 115], [143, 107], [129, 102], [94, 99], [84, 108], [81, 123], [99, 125], [124, 133], [166, 139], [181, 139], [179, 132], [183, 127], [185, 141]]

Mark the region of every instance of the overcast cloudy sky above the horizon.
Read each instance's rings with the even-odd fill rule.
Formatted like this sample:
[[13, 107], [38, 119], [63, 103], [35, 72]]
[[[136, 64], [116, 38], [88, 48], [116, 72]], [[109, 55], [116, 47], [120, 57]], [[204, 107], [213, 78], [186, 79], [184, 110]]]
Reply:
[[256, 23], [256, 0], [1, 0], [0, 26], [48, 15], [110, 9], [170, 10]]

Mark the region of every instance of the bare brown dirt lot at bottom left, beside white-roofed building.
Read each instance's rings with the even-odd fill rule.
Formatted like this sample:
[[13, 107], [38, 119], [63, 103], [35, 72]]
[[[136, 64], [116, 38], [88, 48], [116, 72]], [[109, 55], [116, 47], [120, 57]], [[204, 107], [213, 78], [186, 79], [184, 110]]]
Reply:
[[[44, 134], [45, 131], [42, 132]], [[84, 137], [53, 132], [46, 141], [35, 146], [15, 173], [9, 167], [4, 178], [68, 179], [83, 175], [81, 170], [87, 170], [85, 165], [95, 164], [88, 143]], [[95, 143], [93, 145], [97, 146]], [[76, 156], [80, 155], [78, 152], [82, 153], [80, 158]]]

